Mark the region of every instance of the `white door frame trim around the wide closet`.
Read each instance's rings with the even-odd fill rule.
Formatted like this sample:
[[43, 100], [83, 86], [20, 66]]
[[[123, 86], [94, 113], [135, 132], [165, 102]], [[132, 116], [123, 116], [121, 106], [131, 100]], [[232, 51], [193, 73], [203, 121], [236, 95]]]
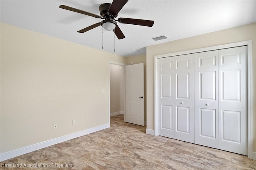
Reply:
[[252, 40], [249, 41], [242, 41], [237, 43], [230, 43], [230, 44], [224, 44], [224, 45], [217, 45], [213, 47], [205, 47], [200, 49], [193, 49], [188, 51], [180, 51], [175, 53], [167, 53], [162, 55], [155, 55], [154, 56], [154, 135], [158, 135], [158, 84], [157, 84], [157, 65], [159, 58], [163, 57], [173, 57], [176, 55], [185, 55], [185, 54], [191, 54], [191, 53], [200, 53], [205, 51], [213, 51], [213, 50], [219, 50], [219, 49], [226, 49], [226, 48], [233, 48], [233, 47], [239, 47], [239, 46], [247, 46], [247, 109], [248, 109], [248, 158], [256, 159], [256, 155], [253, 155], [253, 119], [252, 119]]

